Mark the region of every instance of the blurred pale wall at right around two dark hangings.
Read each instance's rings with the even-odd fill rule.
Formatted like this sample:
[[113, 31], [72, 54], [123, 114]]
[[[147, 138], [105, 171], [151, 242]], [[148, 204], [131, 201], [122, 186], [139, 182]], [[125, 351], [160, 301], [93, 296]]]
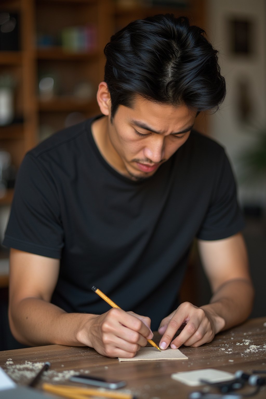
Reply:
[[[240, 203], [258, 204], [266, 209], [266, 176], [253, 183], [240, 179], [240, 154], [257, 140], [252, 124], [266, 130], [266, 1], [265, 0], [207, 0], [209, 40], [220, 52], [222, 74], [227, 81], [227, 96], [219, 113], [212, 115], [209, 132], [221, 142], [233, 164], [238, 180]], [[232, 55], [228, 20], [238, 17], [254, 25], [252, 56]], [[237, 79], [250, 81], [253, 108], [250, 123], [240, 123], [237, 117]]]

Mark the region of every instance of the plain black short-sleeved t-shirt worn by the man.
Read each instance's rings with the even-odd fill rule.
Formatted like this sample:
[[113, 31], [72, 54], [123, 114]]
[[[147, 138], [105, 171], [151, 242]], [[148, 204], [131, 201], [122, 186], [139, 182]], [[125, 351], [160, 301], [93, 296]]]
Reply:
[[94, 285], [157, 329], [177, 306], [194, 237], [244, 225], [232, 170], [219, 144], [192, 131], [153, 176], [132, 181], [102, 158], [92, 121], [28, 152], [3, 244], [61, 260], [52, 302], [67, 312], [109, 310]]

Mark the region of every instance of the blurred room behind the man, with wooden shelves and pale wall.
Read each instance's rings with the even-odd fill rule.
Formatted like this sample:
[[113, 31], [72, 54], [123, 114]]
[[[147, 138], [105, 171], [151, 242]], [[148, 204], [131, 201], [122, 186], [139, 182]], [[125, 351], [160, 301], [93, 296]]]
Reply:
[[[25, 152], [98, 114], [104, 45], [130, 21], [166, 12], [188, 16], [219, 50], [227, 97], [219, 112], [199, 115], [196, 128], [225, 146], [231, 160], [256, 288], [251, 316], [265, 316], [265, 0], [1, 0], [0, 239]], [[210, 296], [195, 248], [181, 299], [200, 306]], [[9, 332], [7, 304], [8, 251], [0, 247], [0, 350], [19, 347]]]

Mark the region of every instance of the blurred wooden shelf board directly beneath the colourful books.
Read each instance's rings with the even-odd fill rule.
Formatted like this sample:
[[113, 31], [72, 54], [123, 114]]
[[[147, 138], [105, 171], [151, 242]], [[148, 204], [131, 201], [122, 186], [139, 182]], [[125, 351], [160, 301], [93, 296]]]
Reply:
[[[58, 0], [57, 0], [58, 1]], [[66, 51], [61, 47], [47, 47], [47, 48], [39, 48], [36, 50], [37, 59], [45, 59], [45, 60], [69, 60], [69, 61], [91, 61], [93, 59], [97, 59], [99, 53], [97, 51], [91, 53], [84, 52], [72, 52]]]

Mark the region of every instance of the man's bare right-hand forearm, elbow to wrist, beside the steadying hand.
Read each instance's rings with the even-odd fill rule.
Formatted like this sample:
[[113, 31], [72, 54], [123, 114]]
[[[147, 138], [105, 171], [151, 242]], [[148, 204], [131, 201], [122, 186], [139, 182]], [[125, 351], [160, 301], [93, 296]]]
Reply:
[[252, 310], [254, 289], [250, 280], [225, 282], [213, 294], [210, 303], [201, 306], [215, 320], [215, 334], [242, 323]]

